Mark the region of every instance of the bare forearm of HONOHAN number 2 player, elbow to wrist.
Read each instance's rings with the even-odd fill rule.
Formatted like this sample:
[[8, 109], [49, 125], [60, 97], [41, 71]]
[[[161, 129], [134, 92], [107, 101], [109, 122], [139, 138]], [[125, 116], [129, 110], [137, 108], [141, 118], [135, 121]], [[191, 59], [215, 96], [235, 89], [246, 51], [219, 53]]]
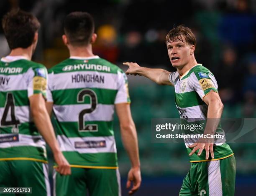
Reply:
[[141, 164], [138, 153], [138, 138], [134, 123], [130, 123], [129, 125], [125, 126], [120, 125], [120, 129], [123, 145], [131, 160], [132, 167], [140, 167]]

